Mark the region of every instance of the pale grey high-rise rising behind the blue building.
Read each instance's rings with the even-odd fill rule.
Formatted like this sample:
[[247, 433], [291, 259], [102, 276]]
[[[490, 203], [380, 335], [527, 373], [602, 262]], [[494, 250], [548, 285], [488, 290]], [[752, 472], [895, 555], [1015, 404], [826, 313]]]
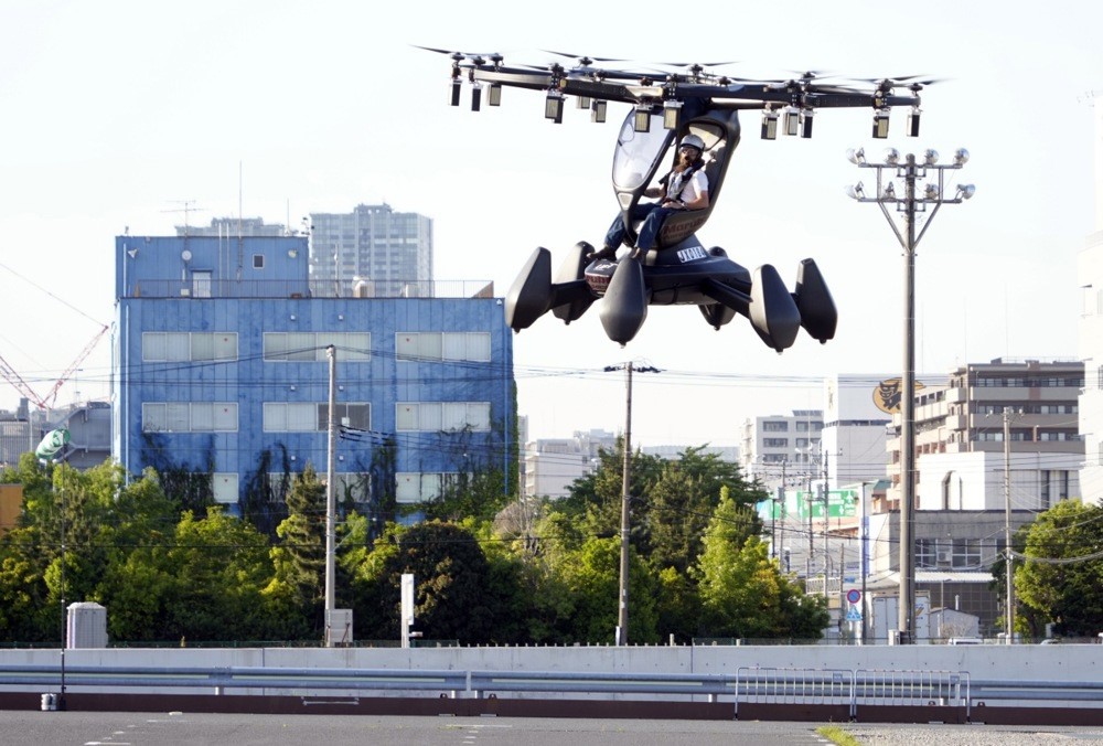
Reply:
[[425, 295], [432, 280], [432, 221], [360, 204], [351, 213], [310, 214], [310, 271], [319, 292], [388, 294], [396, 283], [407, 297]]

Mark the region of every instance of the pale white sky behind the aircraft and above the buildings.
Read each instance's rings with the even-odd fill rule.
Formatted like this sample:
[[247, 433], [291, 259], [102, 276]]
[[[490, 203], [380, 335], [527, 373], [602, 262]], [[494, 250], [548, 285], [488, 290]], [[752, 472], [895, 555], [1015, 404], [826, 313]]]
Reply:
[[[792, 283], [813, 256], [839, 307], [836, 339], [782, 355], [741, 318], [716, 332], [692, 307], [652, 308], [628, 348], [598, 307], [515, 338], [533, 437], [620, 430], [635, 379], [636, 445], [735, 445], [747, 417], [822, 406], [818, 379], [901, 366], [901, 251], [880, 211], [848, 200], [845, 158], [966, 147], [976, 196], [944, 207], [917, 259], [918, 367], [997, 356], [1077, 356], [1077, 254], [1093, 230], [1092, 94], [1103, 87], [1103, 7], [1092, 3], [352, 3], [312, 0], [0, 0], [0, 355], [45, 394], [113, 317], [114, 237], [171, 235], [237, 214], [292, 225], [386, 201], [435, 221], [438, 279], [494, 280], [504, 296], [536, 246], [558, 265], [599, 243], [615, 212], [609, 167], [627, 111], [606, 125], [506, 89], [473, 114], [446, 105], [449, 61], [413, 44], [540, 50], [643, 62], [738, 61], [738, 76], [807, 68], [947, 78], [924, 94], [922, 137], [869, 138], [870, 113], [821, 111], [811, 140], [745, 137], [699, 237]], [[630, 12], [623, 8], [631, 7]], [[522, 10], [524, 9], [524, 10]], [[542, 14], [543, 13], [543, 14]], [[685, 31], [683, 31], [685, 30]], [[638, 63], [640, 64], [640, 63]], [[50, 294], [41, 288], [45, 288]], [[61, 300], [58, 300], [61, 299]], [[64, 302], [63, 302], [64, 301]], [[103, 340], [58, 403], [107, 393]], [[15, 390], [0, 382], [0, 407]]]

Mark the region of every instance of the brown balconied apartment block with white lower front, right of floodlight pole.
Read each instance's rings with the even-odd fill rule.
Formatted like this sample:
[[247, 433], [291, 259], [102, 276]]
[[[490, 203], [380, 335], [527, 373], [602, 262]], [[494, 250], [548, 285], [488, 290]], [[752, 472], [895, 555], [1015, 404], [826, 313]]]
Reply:
[[[1080, 495], [1084, 443], [1079, 361], [971, 363], [946, 386], [917, 391], [917, 510], [1003, 510], [1005, 411], [1010, 499], [1016, 510], [1046, 510]], [[890, 504], [900, 498], [900, 417], [889, 439]]]

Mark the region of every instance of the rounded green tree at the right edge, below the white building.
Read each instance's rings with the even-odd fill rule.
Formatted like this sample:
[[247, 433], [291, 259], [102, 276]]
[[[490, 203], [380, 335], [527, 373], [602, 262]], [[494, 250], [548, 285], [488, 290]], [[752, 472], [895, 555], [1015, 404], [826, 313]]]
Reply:
[[1103, 631], [1103, 508], [1059, 502], [1030, 526], [1024, 554], [1015, 562], [1021, 605], [1054, 622], [1058, 635]]

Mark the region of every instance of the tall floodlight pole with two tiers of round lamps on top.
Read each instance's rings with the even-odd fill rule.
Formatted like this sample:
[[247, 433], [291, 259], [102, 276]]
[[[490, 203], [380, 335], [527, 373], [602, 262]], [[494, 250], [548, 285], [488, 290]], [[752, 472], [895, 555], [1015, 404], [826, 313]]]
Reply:
[[[956, 171], [968, 161], [968, 151], [960, 148], [952, 163], [939, 164], [939, 153], [923, 151], [902, 157], [896, 148], [885, 151], [884, 163], [870, 163], [863, 149], [847, 151], [847, 158], [860, 169], [877, 171], [874, 194], [867, 194], [859, 181], [847, 186], [846, 193], [858, 202], [876, 202], [903, 247], [904, 255], [904, 348], [903, 391], [900, 395], [902, 419], [900, 426], [900, 479], [903, 492], [900, 498], [900, 641], [911, 642], [915, 614], [915, 563], [912, 548], [912, 526], [915, 520], [915, 246], [931, 227], [931, 221], [943, 204], [960, 204], [976, 192], [973, 184], [959, 184], [953, 196], [945, 194], [945, 172]], [[931, 179], [931, 181], [927, 181]], [[897, 189], [896, 183], [901, 184]], [[902, 192], [902, 193], [901, 193]], [[896, 205], [901, 216], [903, 232], [897, 226], [888, 205]], [[928, 212], [930, 207], [930, 212]], [[922, 230], [915, 231], [915, 215], [925, 214]]]

